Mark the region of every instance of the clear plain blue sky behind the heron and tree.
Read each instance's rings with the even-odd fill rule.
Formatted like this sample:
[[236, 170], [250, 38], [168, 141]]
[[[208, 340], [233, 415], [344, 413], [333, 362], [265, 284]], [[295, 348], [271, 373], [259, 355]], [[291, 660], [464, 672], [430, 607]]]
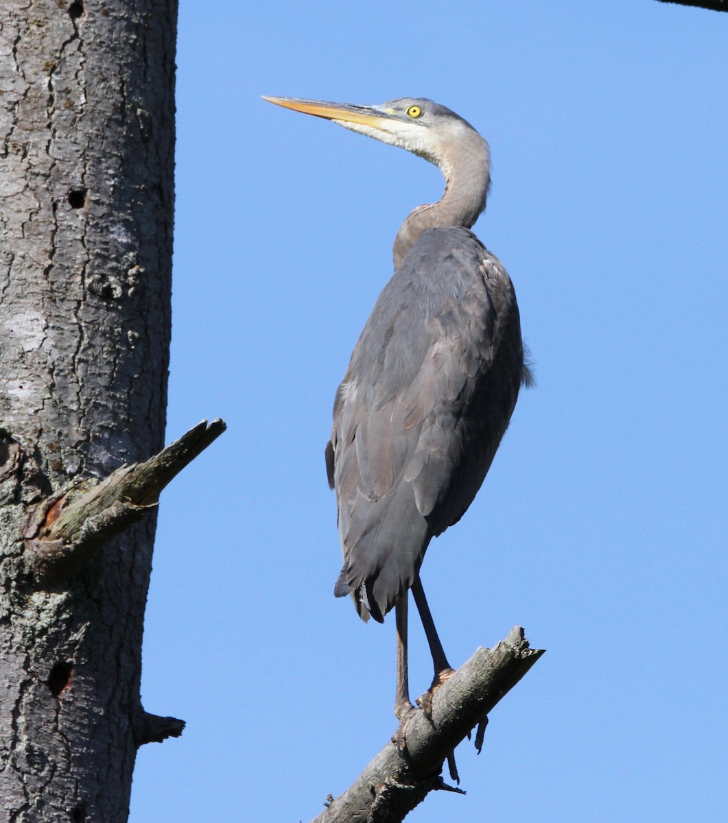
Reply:
[[[422, 579], [460, 665], [548, 653], [408, 817], [725, 814], [728, 14], [654, 0], [182, 0], [168, 440], [229, 426], [161, 500], [142, 677], [184, 718], [133, 823], [306, 821], [396, 721], [394, 621], [332, 595], [334, 391], [434, 166], [259, 95], [426, 96], [487, 137], [475, 230], [538, 388]], [[432, 676], [412, 621], [411, 680]]]

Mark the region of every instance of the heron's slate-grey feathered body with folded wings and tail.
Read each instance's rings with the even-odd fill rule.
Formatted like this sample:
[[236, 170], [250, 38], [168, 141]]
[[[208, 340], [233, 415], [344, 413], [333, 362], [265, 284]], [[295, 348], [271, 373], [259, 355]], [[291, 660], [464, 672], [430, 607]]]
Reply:
[[523, 374], [516, 296], [460, 227], [427, 230], [385, 286], [334, 403], [326, 449], [343, 570], [376, 620], [413, 583], [427, 544], [474, 499]]

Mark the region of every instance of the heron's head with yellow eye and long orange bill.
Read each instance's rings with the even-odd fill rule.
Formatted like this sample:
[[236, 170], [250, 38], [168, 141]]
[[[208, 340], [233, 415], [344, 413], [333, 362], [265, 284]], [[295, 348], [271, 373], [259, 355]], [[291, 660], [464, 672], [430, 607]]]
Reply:
[[454, 111], [424, 97], [401, 97], [375, 106], [295, 97], [264, 100], [332, 120], [353, 132], [412, 151], [440, 166], [446, 176], [460, 158], [488, 164], [488, 143], [483, 137]]

